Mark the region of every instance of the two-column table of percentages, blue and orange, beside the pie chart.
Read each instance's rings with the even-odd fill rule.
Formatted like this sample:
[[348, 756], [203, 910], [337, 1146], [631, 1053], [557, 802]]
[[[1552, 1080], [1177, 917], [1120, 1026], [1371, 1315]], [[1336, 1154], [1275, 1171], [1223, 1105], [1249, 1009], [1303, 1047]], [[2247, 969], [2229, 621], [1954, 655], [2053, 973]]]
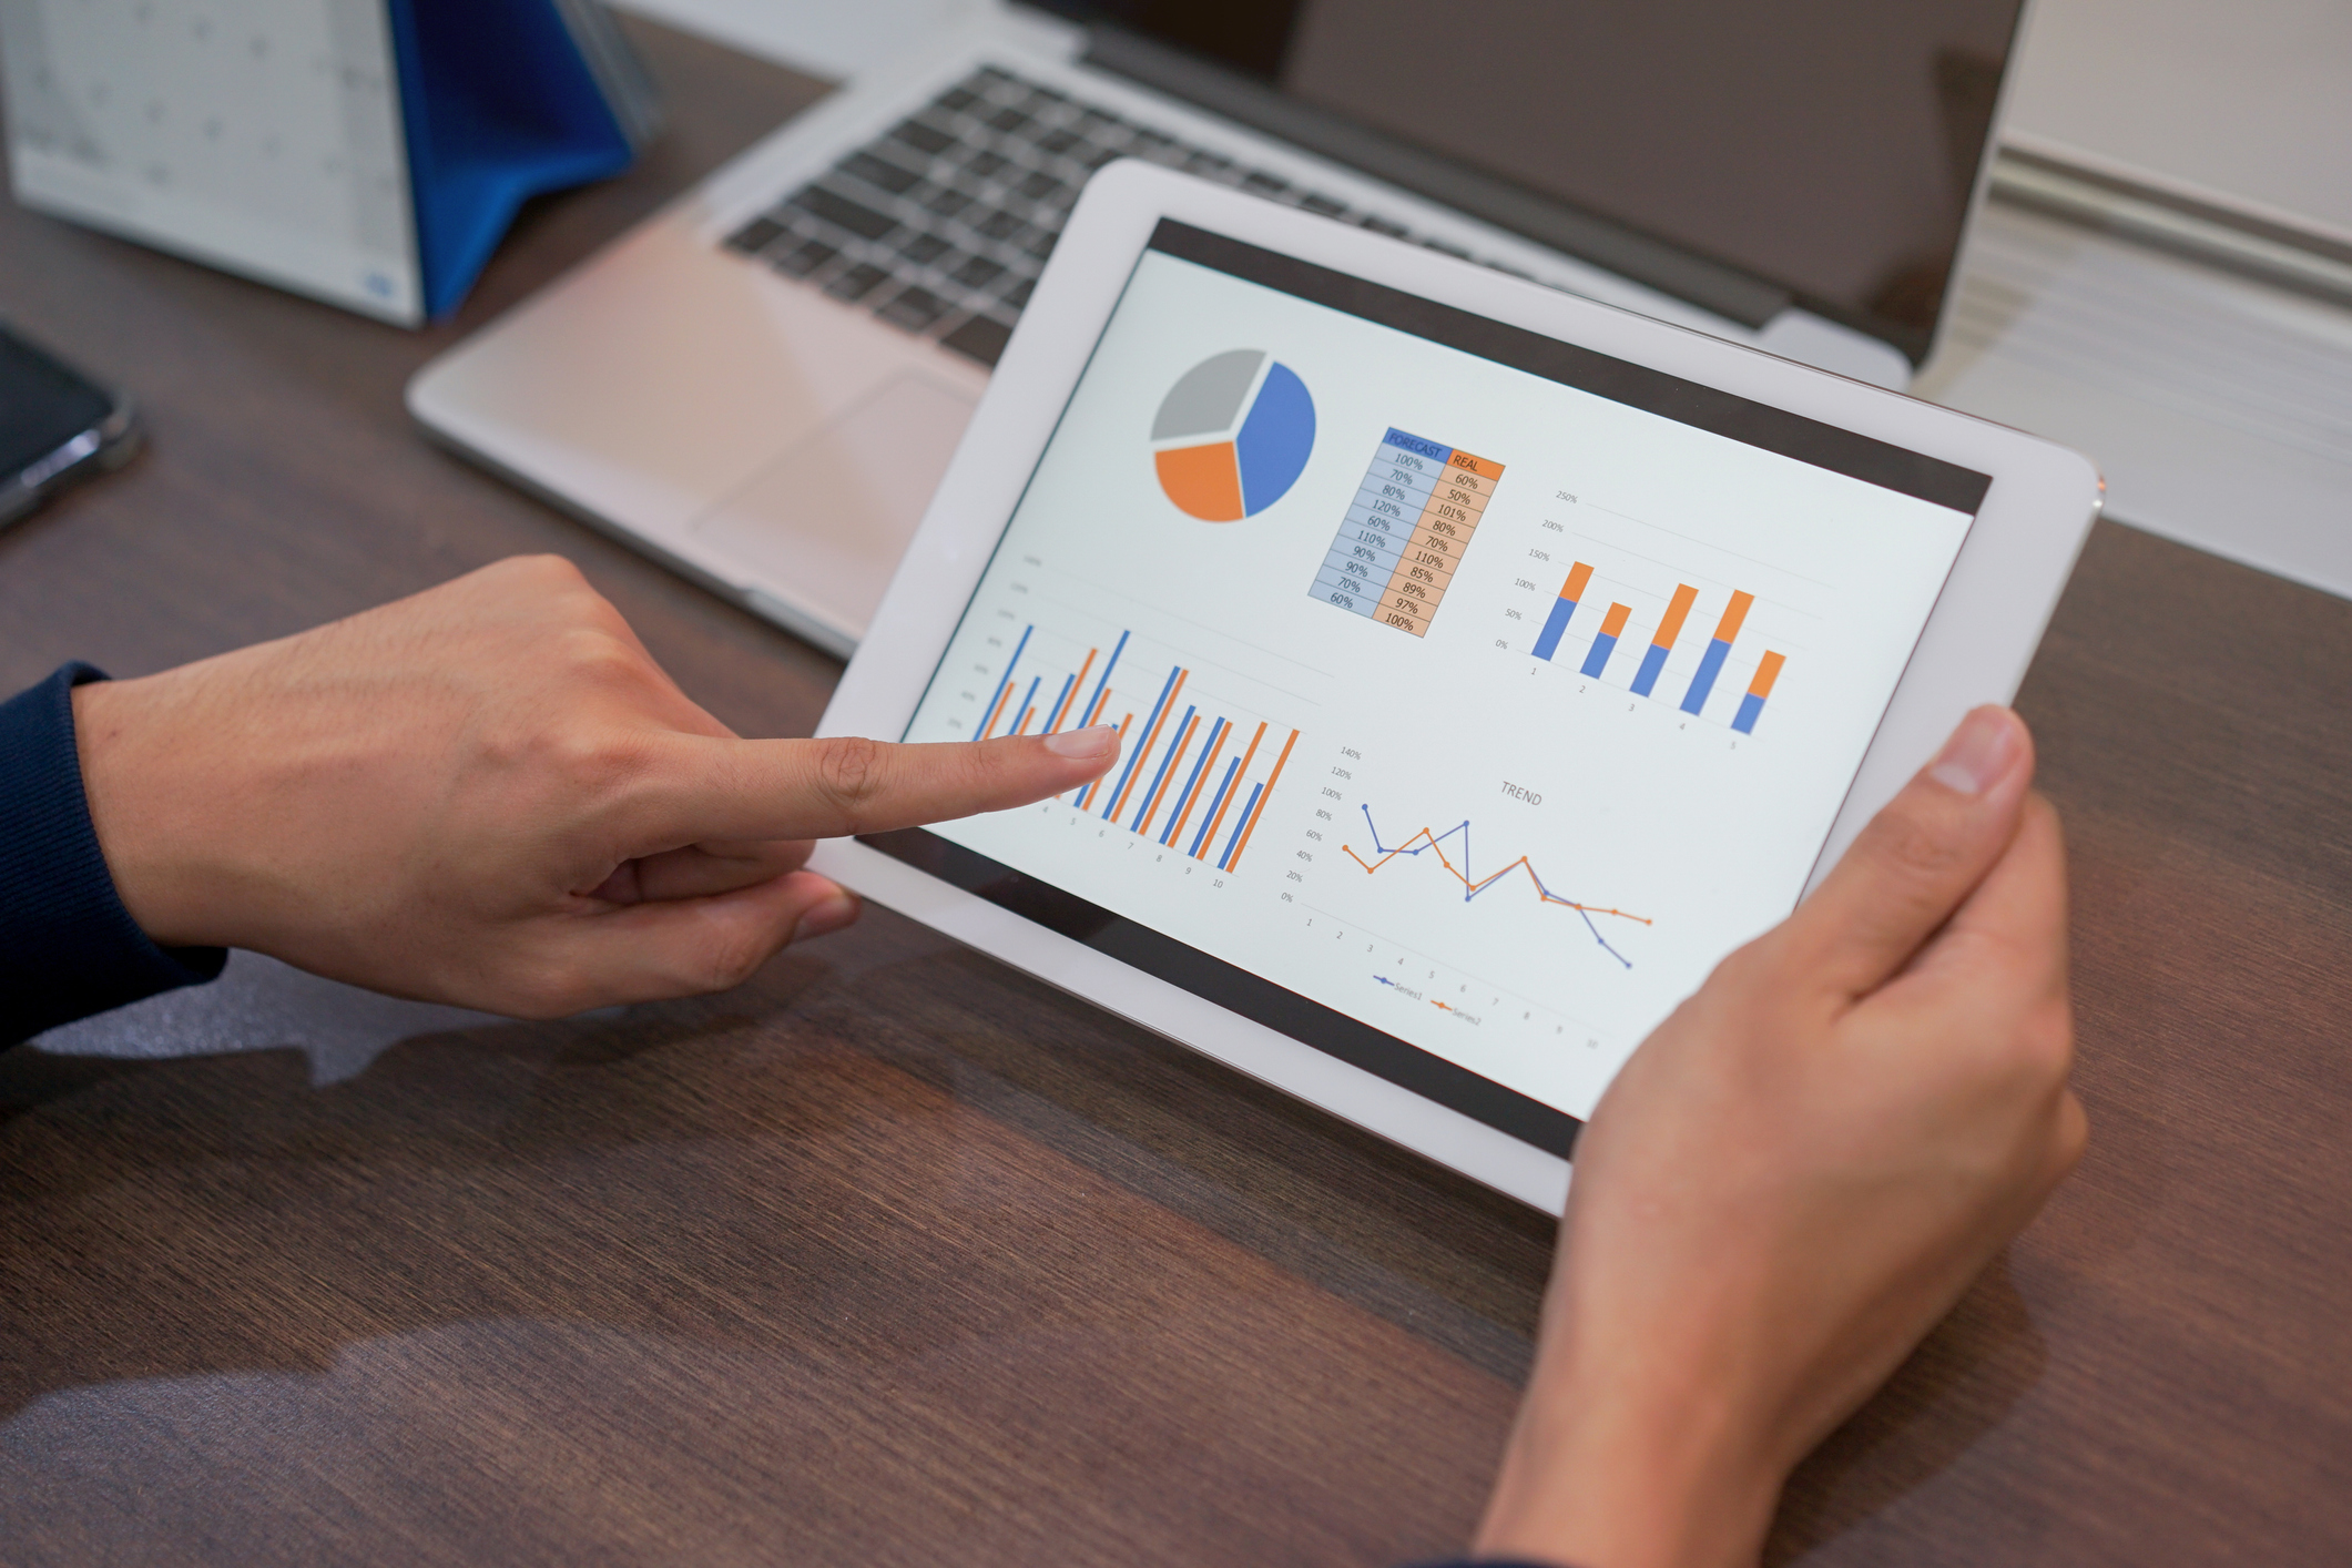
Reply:
[[1315, 574], [1312, 597], [1428, 637], [1501, 477], [1501, 463], [1390, 430]]

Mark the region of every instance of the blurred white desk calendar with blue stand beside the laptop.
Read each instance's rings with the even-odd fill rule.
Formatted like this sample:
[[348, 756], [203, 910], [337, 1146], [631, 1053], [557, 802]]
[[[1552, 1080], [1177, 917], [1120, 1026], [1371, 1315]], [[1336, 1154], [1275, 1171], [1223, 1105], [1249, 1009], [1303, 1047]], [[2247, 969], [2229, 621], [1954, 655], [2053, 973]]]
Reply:
[[26, 207], [402, 324], [656, 127], [600, 0], [0, 0], [0, 63]]

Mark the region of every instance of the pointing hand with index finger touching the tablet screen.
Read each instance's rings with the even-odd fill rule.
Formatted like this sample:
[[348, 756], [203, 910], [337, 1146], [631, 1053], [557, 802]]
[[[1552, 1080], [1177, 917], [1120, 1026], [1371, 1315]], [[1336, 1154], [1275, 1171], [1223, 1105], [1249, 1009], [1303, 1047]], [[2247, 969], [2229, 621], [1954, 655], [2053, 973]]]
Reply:
[[548, 1018], [722, 990], [858, 914], [811, 839], [1023, 806], [1108, 726], [739, 741], [564, 559], [73, 693], [122, 903], [167, 947]]

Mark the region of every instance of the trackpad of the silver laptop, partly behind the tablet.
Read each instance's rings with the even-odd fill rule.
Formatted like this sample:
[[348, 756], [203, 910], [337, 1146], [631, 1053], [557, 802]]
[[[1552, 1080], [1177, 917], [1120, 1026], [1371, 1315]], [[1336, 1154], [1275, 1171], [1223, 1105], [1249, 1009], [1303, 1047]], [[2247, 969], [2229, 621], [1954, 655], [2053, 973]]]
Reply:
[[762, 468], [694, 531], [762, 585], [863, 637], [971, 407], [964, 393], [917, 374], [887, 381]]

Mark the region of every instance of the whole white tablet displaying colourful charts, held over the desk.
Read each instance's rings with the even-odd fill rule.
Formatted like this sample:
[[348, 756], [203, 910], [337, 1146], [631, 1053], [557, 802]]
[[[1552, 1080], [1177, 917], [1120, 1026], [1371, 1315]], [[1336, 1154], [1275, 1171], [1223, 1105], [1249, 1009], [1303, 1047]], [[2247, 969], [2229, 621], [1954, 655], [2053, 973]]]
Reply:
[[1642, 1037], [2025, 675], [2082, 456], [1136, 162], [821, 733], [1117, 766], [816, 867], [1555, 1208]]

